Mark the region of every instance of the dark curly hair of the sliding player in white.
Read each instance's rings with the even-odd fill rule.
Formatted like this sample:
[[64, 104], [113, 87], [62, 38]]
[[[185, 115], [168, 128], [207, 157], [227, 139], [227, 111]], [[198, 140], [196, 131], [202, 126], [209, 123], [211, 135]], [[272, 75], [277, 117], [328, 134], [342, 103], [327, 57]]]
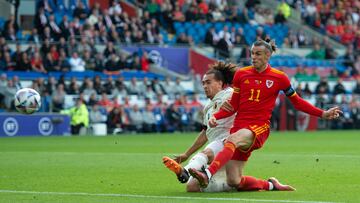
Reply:
[[237, 66], [232, 63], [225, 63], [222, 61], [215, 62], [209, 66], [205, 74], [214, 74], [216, 80], [220, 80], [224, 85], [231, 85], [234, 78]]

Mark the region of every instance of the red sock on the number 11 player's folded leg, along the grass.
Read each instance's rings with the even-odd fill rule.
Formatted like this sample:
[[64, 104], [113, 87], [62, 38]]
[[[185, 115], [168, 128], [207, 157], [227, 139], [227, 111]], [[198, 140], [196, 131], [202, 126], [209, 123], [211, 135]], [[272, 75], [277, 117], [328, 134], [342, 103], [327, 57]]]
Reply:
[[269, 182], [260, 180], [252, 176], [243, 176], [238, 187], [238, 191], [258, 191], [269, 190]]

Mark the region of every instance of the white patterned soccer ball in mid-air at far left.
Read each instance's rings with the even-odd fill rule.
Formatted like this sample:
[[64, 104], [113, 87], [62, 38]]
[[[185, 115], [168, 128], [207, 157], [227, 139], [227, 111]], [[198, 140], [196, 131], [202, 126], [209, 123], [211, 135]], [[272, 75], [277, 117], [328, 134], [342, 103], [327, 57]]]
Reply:
[[32, 114], [41, 106], [40, 94], [31, 88], [19, 89], [15, 94], [15, 108], [23, 114]]

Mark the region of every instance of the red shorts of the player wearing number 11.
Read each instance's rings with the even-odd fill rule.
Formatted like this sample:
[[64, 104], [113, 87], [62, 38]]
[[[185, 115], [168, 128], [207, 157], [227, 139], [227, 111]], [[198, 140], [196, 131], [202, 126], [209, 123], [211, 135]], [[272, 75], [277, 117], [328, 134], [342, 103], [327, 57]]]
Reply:
[[254, 142], [251, 145], [251, 147], [246, 151], [243, 151], [243, 150], [237, 148], [235, 150], [234, 155], [231, 158], [231, 160], [247, 161], [251, 155], [251, 152], [256, 149], [260, 149], [270, 134], [270, 125], [267, 123], [264, 123], [261, 125], [246, 124], [246, 125], [240, 125], [240, 126], [236, 126], [236, 127], [234, 126], [233, 128], [231, 128], [230, 134], [235, 133], [238, 130], [243, 129], [243, 128], [249, 129], [254, 133], [254, 135], [255, 135]]

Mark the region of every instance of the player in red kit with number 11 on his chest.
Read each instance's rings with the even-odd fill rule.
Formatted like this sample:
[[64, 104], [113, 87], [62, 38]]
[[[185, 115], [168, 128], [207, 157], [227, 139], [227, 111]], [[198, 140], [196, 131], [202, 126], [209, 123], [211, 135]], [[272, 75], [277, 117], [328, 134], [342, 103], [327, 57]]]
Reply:
[[252, 66], [238, 69], [233, 79], [231, 100], [209, 120], [209, 126], [216, 126], [217, 120], [236, 113], [230, 135], [207, 169], [189, 173], [206, 187], [209, 179], [226, 165], [228, 185], [239, 191], [288, 190], [295, 188], [281, 184], [276, 178], [260, 180], [243, 176], [243, 168], [253, 150], [263, 146], [270, 134], [270, 117], [280, 91], [290, 99], [297, 110], [323, 119], [336, 119], [342, 113], [339, 107], [321, 110], [299, 97], [285, 73], [272, 68], [268, 61], [276, 51], [274, 41], [256, 41], [251, 48]]

